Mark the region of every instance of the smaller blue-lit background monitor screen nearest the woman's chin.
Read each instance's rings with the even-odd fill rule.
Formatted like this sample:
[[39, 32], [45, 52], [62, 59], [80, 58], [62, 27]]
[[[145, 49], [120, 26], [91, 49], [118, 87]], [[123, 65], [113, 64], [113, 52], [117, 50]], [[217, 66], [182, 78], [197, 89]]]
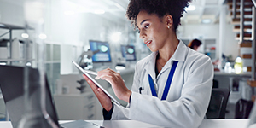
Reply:
[[136, 61], [134, 46], [121, 45], [121, 52], [126, 61]]

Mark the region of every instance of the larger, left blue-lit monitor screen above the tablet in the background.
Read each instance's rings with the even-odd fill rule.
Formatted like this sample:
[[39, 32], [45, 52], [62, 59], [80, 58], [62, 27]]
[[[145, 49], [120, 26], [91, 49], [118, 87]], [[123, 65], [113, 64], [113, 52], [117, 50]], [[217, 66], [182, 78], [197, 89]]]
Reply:
[[108, 42], [90, 40], [90, 50], [93, 62], [108, 62], [111, 61], [110, 49]]

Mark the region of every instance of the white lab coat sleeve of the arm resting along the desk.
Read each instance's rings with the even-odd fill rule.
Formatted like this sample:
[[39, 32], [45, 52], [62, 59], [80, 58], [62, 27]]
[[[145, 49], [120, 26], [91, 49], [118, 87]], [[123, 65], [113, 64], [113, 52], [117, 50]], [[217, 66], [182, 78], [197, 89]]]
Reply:
[[212, 61], [207, 57], [195, 61], [189, 67], [188, 75], [181, 77], [185, 81], [181, 96], [173, 102], [132, 92], [129, 119], [166, 127], [198, 127], [211, 96]]

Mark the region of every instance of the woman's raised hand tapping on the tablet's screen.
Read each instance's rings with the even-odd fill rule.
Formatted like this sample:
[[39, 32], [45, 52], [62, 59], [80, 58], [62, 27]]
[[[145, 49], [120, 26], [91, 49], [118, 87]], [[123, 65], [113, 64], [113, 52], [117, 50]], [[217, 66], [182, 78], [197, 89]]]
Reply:
[[114, 94], [125, 102], [130, 103], [131, 90], [127, 89], [125, 83], [119, 73], [107, 68], [98, 72], [96, 79], [107, 80], [113, 88]]

